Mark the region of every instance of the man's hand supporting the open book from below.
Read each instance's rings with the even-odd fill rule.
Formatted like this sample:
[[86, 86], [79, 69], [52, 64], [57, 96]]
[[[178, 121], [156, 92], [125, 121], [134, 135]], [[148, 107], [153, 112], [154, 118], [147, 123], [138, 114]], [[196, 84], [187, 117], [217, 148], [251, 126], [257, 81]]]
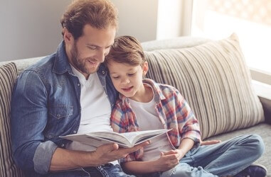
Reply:
[[148, 144], [149, 142], [143, 142], [131, 148], [119, 148], [119, 145], [116, 143], [105, 144], [97, 147], [96, 151], [93, 152], [93, 156], [97, 159], [97, 166], [100, 166], [102, 164], [107, 164], [110, 161], [124, 158], [128, 154], [135, 152]]

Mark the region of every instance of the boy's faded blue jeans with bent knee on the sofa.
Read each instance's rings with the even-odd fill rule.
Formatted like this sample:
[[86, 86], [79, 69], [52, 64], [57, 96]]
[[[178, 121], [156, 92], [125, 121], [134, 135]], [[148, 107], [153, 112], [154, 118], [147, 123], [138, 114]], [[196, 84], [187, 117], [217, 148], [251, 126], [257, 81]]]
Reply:
[[173, 169], [147, 176], [233, 176], [260, 158], [264, 149], [259, 135], [241, 135], [191, 149]]

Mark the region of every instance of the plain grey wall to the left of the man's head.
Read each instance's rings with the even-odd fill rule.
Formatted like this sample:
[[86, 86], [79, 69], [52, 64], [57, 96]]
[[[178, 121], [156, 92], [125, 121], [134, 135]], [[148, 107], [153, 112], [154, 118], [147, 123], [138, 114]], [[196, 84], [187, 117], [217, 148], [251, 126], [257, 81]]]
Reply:
[[72, 0], [1, 0], [0, 62], [55, 52], [60, 17]]

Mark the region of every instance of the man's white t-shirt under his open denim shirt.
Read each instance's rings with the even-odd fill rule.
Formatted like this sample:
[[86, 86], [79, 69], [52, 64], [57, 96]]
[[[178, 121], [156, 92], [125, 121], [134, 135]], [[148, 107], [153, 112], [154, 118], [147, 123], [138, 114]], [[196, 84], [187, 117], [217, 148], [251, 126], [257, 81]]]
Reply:
[[[86, 80], [83, 74], [78, 72], [73, 66], [71, 67], [75, 76], [78, 76], [81, 89], [81, 120], [78, 134], [97, 131], [113, 132], [110, 125], [110, 101], [100, 83], [97, 72], [90, 74]], [[66, 149], [90, 152], [95, 151], [96, 147], [81, 144], [80, 142], [71, 142]], [[113, 164], [115, 163], [117, 161], [114, 161]]]

